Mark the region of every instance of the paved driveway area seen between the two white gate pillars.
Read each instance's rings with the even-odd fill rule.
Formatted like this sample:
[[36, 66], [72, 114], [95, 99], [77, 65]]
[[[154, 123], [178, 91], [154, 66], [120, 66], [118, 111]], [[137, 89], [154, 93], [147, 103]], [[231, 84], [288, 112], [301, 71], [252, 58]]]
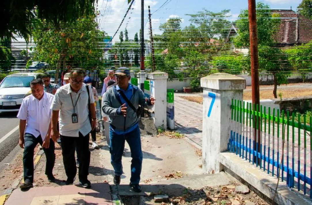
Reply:
[[185, 95], [174, 93], [175, 128], [179, 133], [202, 147], [202, 104], [181, 98]]

